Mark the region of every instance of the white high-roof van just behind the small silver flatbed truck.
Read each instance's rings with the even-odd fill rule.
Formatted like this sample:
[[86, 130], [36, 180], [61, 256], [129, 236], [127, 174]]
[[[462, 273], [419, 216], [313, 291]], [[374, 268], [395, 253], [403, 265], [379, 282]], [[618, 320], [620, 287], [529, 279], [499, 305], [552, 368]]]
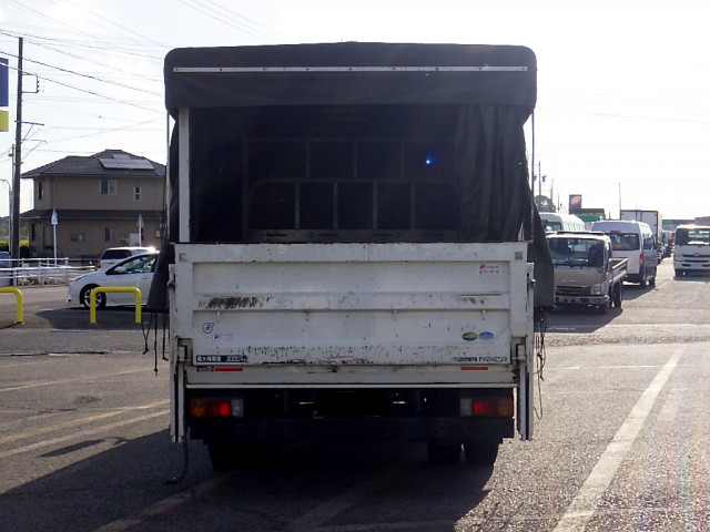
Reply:
[[615, 257], [628, 259], [629, 283], [656, 284], [658, 252], [651, 227], [645, 222], [631, 219], [605, 219], [591, 224], [591, 231], [601, 231], [611, 238]]

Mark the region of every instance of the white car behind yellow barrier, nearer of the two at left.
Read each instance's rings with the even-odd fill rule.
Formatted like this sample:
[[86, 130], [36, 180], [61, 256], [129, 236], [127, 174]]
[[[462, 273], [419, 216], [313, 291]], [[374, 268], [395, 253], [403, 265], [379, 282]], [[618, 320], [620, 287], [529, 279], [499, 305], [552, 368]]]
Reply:
[[[141, 290], [141, 304], [145, 305], [156, 262], [158, 253], [146, 253], [126, 258], [109, 269], [98, 269], [77, 277], [69, 285], [67, 303], [77, 303], [89, 308], [90, 294], [93, 288], [136, 287]], [[133, 306], [135, 305], [135, 295], [132, 291], [98, 293], [97, 308], [103, 308], [106, 305]]]

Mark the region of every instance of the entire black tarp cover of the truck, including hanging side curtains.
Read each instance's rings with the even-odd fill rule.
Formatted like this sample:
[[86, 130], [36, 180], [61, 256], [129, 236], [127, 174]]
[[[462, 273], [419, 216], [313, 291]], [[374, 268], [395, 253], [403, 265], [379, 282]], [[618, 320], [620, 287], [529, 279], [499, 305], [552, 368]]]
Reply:
[[[457, 66], [480, 69], [456, 71]], [[530, 242], [529, 259], [535, 262], [536, 306], [554, 306], [554, 269], [528, 183], [523, 130], [536, 101], [536, 58], [529, 49], [358, 42], [178, 49], [165, 58], [164, 75], [165, 103], [173, 116], [181, 108], [458, 106], [458, 239], [515, 242], [523, 229]], [[175, 139], [174, 134], [168, 233], [173, 241], [178, 236]], [[166, 265], [172, 260], [166, 242], [149, 309], [166, 308]]]

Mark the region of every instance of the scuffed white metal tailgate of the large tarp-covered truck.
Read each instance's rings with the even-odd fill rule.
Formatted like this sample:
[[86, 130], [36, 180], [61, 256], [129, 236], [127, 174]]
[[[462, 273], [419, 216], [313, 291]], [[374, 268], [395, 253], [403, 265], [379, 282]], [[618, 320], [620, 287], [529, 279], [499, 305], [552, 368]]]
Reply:
[[195, 365], [510, 364], [526, 248], [178, 244], [172, 331]]

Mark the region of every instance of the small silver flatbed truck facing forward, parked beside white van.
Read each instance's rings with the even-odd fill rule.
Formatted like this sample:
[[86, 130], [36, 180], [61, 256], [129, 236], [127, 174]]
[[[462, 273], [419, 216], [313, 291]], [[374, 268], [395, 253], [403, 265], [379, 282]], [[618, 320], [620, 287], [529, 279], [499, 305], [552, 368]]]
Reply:
[[604, 233], [560, 232], [548, 235], [555, 265], [555, 304], [594, 307], [607, 313], [621, 307], [626, 258], [615, 258]]

